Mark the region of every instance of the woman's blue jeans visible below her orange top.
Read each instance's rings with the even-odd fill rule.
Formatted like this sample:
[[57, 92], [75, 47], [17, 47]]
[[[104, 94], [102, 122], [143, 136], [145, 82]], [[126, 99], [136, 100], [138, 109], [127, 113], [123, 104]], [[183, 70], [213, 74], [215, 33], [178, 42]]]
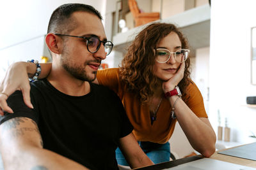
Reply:
[[[148, 141], [138, 141], [141, 149], [146, 153], [146, 155], [151, 159], [154, 164], [161, 162], [167, 162], [170, 160], [170, 143], [152, 143]], [[116, 160], [117, 163], [122, 166], [129, 166], [126, 162], [124, 155], [119, 148], [116, 149]]]

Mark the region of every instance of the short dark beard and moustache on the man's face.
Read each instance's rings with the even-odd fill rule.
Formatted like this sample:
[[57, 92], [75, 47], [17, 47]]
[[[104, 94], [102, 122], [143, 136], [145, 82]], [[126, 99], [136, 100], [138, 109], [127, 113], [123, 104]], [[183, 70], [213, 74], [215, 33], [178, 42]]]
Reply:
[[84, 67], [88, 65], [90, 62], [98, 62], [100, 63], [99, 60], [88, 60], [84, 62], [83, 65], [78, 66], [76, 64], [72, 64], [72, 60], [68, 59], [69, 53], [67, 51], [63, 52], [63, 55], [61, 56], [61, 66], [74, 78], [77, 78], [78, 80], [82, 81], [94, 81], [96, 78], [97, 71], [93, 71], [92, 73], [94, 74], [93, 77], [90, 77], [88, 73], [84, 70]]

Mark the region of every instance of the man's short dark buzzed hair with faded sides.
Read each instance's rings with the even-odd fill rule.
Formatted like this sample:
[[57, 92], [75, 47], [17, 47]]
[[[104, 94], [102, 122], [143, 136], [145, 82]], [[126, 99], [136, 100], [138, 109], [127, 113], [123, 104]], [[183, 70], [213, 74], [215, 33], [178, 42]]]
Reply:
[[[102, 20], [100, 12], [95, 10], [95, 8], [88, 4], [63, 4], [53, 11], [49, 20], [47, 33], [53, 32], [59, 34], [67, 34], [68, 32], [75, 29], [76, 20], [70, 20], [70, 17], [72, 13], [76, 11], [85, 11], [88, 13], [92, 13], [93, 15], [99, 17], [100, 20]], [[84, 18], [84, 20], [86, 20], [86, 18]]]

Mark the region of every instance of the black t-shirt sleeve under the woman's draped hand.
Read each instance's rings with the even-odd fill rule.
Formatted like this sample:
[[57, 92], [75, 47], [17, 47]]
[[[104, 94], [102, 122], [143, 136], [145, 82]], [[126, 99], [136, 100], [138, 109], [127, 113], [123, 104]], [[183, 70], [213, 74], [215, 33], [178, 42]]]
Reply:
[[38, 118], [36, 118], [35, 110], [26, 106], [23, 101], [22, 92], [20, 92], [19, 90], [17, 90], [10, 97], [8, 97], [6, 102], [8, 106], [12, 108], [14, 113], [8, 113], [4, 111], [4, 116], [0, 117], [0, 124], [3, 124], [3, 122], [6, 122], [7, 120], [10, 120], [14, 117], [27, 117], [38, 123]]

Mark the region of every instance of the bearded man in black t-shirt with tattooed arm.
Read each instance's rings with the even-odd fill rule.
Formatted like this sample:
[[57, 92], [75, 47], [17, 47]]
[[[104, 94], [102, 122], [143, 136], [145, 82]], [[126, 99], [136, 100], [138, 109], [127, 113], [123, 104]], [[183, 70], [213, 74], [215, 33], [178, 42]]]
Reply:
[[52, 13], [45, 37], [52, 71], [31, 83], [34, 109], [16, 91], [7, 100], [14, 113], [1, 118], [6, 169], [118, 169], [117, 146], [131, 167], [152, 164], [118, 96], [90, 83], [113, 46], [101, 19], [85, 4], [64, 4]]

